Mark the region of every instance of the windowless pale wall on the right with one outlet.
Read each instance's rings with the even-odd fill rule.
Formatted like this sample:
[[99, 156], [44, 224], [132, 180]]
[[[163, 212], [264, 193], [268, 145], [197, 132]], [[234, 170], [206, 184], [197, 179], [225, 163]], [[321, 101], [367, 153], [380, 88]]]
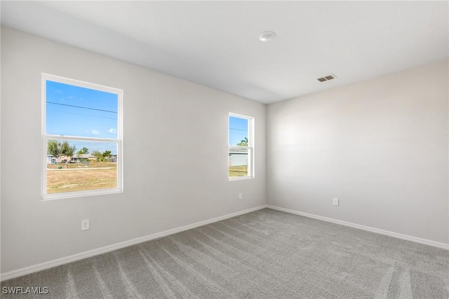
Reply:
[[448, 82], [445, 60], [267, 106], [268, 204], [449, 243]]

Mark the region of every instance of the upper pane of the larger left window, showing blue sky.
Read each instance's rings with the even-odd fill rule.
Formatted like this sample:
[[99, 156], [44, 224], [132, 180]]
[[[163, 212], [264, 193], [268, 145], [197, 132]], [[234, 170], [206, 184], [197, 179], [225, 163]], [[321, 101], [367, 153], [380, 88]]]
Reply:
[[46, 134], [117, 139], [118, 96], [46, 81]]

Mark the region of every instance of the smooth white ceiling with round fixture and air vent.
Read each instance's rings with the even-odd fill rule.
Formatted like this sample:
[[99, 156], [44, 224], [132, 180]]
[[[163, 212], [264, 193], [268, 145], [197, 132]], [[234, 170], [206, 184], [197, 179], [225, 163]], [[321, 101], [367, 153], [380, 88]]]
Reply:
[[448, 59], [448, 15], [448, 1], [1, 1], [2, 25], [265, 104]]

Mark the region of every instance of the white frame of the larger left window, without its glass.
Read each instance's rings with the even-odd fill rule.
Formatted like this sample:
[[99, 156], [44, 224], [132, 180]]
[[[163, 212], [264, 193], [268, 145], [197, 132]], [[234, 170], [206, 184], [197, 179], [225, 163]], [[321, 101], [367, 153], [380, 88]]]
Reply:
[[[54, 81], [58, 83], [65, 83], [81, 88], [90, 88], [93, 90], [100, 90], [104, 92], [114, 93], [117, 95], [117, 138], [93, 138], [93, 137], [79, 137], [67, 135], [52, 135], [46, 134], [46, 81]], [[51, 74], [41, 74], [41, 97], [42, 97], [42, 111], [41, 111], [41, 135], [42, 135], [42, 180], [41, 180], [41, 199], [42, 200], [59, 200], [62, 198], [85, 197], [91, 195], [105, 195], [111, 193], [123, 193], [123, 90], [118, 88], [111, 88], [105, 85], [95, 83], [88, 83], [71, 78], [64, 78]], [[117, 188], [84, 190], [65, 193], [47, 193], [47, 142], [48, 140], [62, 140], [62, 141], [95, 141], [117, 144]]]

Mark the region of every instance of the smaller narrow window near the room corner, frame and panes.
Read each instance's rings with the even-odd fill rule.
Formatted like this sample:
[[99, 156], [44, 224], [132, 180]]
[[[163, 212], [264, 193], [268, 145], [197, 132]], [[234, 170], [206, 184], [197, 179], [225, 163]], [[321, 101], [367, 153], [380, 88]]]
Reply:
[[229, 180], [254, 176], [254, 118], [229, 113]]

